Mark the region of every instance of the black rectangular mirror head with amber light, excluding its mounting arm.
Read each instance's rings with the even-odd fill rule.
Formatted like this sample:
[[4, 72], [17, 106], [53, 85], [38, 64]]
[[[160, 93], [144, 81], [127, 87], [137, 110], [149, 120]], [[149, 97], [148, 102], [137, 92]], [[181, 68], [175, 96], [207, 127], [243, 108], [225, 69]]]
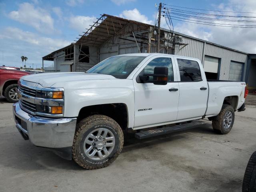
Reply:
[[168, 82], [168, 67], [155, 67], [153, 83], [155, 85], [166, 85]]

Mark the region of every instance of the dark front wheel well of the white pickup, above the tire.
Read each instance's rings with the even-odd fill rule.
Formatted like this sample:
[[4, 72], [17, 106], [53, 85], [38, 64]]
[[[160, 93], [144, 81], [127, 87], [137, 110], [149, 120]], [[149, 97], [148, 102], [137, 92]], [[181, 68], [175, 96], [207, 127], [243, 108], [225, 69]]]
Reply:
[[78, 122], [91, 115], [106, 115], [114, 119], [122, 129], [128, 128], [128, 109], [124, 103], [100, 104], [83, 107]]

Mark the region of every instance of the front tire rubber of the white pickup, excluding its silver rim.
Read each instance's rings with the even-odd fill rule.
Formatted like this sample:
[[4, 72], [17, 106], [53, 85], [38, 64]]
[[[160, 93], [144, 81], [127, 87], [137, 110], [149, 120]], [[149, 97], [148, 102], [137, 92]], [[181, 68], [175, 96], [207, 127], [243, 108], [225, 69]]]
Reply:
[[[99, 126], [105, 126], [104, 128], [108, 126], [108, 129], [113, 132], [115, 137], [115, 146], [107, 158], [103, 160], [91, 160], [84, 153], [84, 149], [82, 147], [83, 139]], [[116, 160], [122, 151], [123, 145], [124, 135], [121, 127], [116, 121], [114, 121], [112, 118], [109, 118], [108, 116], [92, 115], [84, 118], [76, 125], [76, 132], [72, 146], [72, 158], [78, 165], [88, 170], [103, 168]]]

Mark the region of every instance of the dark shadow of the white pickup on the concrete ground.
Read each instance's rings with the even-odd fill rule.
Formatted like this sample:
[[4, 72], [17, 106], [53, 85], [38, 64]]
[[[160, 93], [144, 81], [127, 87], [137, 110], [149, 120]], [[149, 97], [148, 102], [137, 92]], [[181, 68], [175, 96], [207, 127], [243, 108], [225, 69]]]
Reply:
[[[129, 153], [132, 150], [140, 150], [141, 148], [154, 148], [154, 146], [167, 143], [174, 144], [177, 140], [184, 139], [189, 137], [186, 132], [200, 132], [202, 134], [214, 134], [212, 129], [207, 128], [195, 128], [193, 130], [186, 130], [181, 132], [176, 132], [172, 134], [166, 134], [162, 136], [156, 136], [153, 138], [147, 138], [143, 140], [138, 140], [134, 138], [133, 134], [125, 134], [124, 138], [124, 147], [122, 153]], [[20, 137], [19, 134], [16, 134], [15, 137]], [[83, 168], [78, 166], [73, 160], [65, 160], [57, 156], [53, 152], [39, 148], [31, 144], [29, 141], [24, 141], [18, 139], [18, 142], [15, 146], [12, 147], [13, 151], [16, 153], [7, 153], [3, 154], [5, 156], [10, 156], [9, 158], [12, 161], [2, 161], [0, 164], [3, 166], [9, 166], [12, 168], [18, 168], [26, 171], [38, 171], [38, 170], [49, 170], [56, 171], [58, 169], [64, 170], [75, 170], [75, 171], [85, 171]], [[122, 155], [121, 153], [121, 155]], [[17, 158], [18, 156], [18, 158]]]

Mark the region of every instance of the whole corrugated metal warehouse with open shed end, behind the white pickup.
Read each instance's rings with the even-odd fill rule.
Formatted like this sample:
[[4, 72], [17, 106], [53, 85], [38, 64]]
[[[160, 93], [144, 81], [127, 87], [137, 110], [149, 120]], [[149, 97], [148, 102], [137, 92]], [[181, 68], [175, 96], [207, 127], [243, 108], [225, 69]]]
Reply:
[[[157, 27], [107, 14], [75, 43], [46, 56], [54, 61], [46, 72], [85, 72], [98, 62], [119, 54], [156, 52]], [[256, 55], [224, 47], [178, 32], [160, 29], [160, 53], [201, 60], [208, 79], [246, 81], [256, 87]]]

